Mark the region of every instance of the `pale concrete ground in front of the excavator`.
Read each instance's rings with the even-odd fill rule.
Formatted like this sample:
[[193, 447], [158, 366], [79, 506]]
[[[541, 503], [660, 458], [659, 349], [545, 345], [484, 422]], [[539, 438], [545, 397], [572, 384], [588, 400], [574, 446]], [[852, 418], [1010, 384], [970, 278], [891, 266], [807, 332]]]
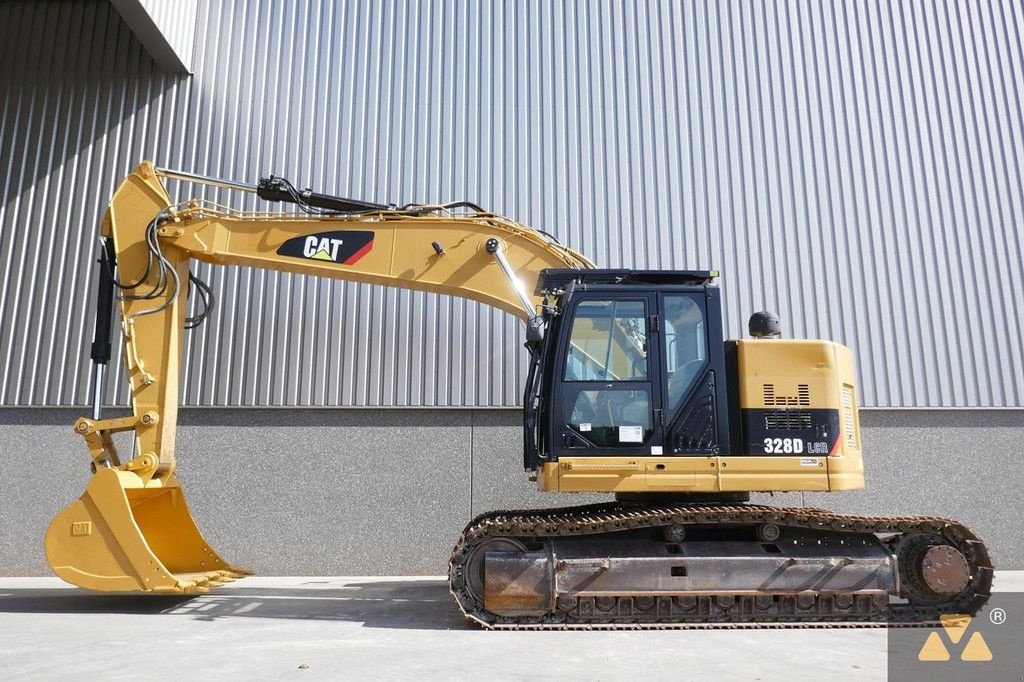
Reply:
[[[1024, 592], [1024, 571], [996, 576]], [[485, 632], [439, 578], [250, 578], [190, 598], [0, 579], [4, 679], [885, 679], [884, 629]]]

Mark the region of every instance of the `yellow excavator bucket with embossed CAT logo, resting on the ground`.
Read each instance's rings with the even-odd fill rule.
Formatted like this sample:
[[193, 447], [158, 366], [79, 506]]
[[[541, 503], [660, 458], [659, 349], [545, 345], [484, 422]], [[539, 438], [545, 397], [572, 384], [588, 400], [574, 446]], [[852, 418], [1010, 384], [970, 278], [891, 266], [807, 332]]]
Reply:
[[203, 539], [175, 476], [145, 483], [108, 468], [50, 523], [46, 559], [62, 580], [101, 592], [200, 594], [250, 574]]

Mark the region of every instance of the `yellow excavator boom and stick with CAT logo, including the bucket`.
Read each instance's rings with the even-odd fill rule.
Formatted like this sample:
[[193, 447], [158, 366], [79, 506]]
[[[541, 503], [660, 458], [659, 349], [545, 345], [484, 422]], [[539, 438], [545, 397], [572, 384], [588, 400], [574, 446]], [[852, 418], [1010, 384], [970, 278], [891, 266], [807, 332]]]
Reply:
[[[472, 205], [397, 209], [298, 193], [271, 178], [231, 186], [306, 212], [244, 212], [203, 200], [174, 205], [167, 175], [195, 179], [142, 163], [118, 187], [100, 229], [106, 242], [93, 360], [101, 367], [109, 355], [102, 337], [111, 325], [102, 317], [120, 292], [132, 416], [101, 419], [97, 371], [92, 417], [75, 425], [93, 480], [46, 539], [55, 572], [89, 589], [197, 592], [245, 573], [203, 540], [174, 475], [183, 339], [205, 316], [187, 318], [189, 289], [212, 303], [190, 272], [193, 259], [460, 296], [532, 323], [535, 331], [541, 271], [594, 267], [554, 239]], [[125, 462], [111, 437], [120, 431], [134, 432], [136, 455]]]

